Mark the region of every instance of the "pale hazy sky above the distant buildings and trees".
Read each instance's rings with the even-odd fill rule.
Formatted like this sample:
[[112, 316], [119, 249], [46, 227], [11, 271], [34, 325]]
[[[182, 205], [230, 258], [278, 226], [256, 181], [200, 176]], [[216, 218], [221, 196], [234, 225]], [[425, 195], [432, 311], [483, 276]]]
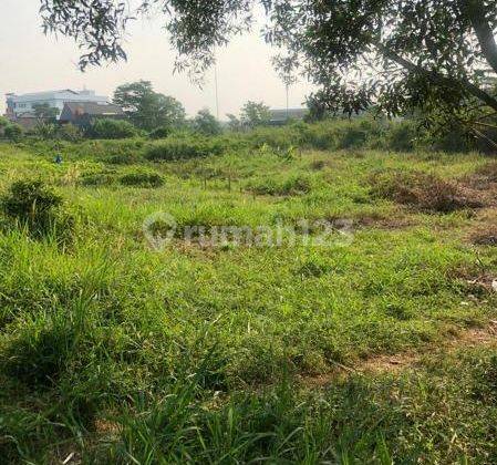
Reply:
[[[112, 95], [122, 83], [152, 81], [158, 92], [173, 95], [193, 114], [203, 107], [216, 111], [214, 72], [200, 90], [186, 74], [173, 74], [175, 52], [170, 50], [161, 19], [138, 20], [131, 29], [127, 62], [77, 70], [79, 49], [65, 39], [45, 37], [38, 14], [39, 0], [1, 0], [0, 113], [7, 92], [24, 93], [55, 89], [92, 89]], [[257, 28], [256, 28], [257, 29]], [[237, 114], [248, 100], [284, 107], [284, 86], [273, 71], [273, 53], [258, 31], [237, 38], [218, 52], [219, 116]], [[290, 90], [290, 106], [300, 106], [311, 87], [299, 82]]]

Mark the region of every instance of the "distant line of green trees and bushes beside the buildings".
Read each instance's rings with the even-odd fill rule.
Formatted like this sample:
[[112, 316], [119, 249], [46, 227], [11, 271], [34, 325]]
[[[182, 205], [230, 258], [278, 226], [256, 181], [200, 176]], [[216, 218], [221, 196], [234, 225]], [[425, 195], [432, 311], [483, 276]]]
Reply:
[[166, 138], [172, 133], [189, 132], [215, 136], [222, 131], [247, 131], [270, 122], [269, 107], [262, 102], [247, 102], [238, 116], [228, 114], [228, 122], [219, 122], [208, 108], [203, 108], [190, 118], [183, 104], [170, 95], [156, 92], [149, 81], [136, 81], [117, 86], [112, 102], [121, 106], [126, 120], [95, 117], [87, 126], [58, 122], [59, 108], [49, 104], [37, 104], [33, 113], [35, 127], [25, 132], [22, 126], [0, 118], [0, 136], [18, 141], [24, 133], [44, 140], [63, 138], [77, 141], [87, 138], [126, 138], [149, 136]]

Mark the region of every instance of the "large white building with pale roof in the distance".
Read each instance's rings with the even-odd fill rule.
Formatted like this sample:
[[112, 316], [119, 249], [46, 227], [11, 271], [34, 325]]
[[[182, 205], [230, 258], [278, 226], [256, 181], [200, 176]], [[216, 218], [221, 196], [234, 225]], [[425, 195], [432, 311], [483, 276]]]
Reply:
[[17, 95], [13, 93], [7, 94], [7, 112], [6, 116], [9, 120], [18, 121], [22, 117], [30, 117], [34, 107], [40, 104], [48, 104], [51, 107], [59, 110], [59, 115], [62, 113], [65, 103], [70, 102], [93, 102], [105, 104], [107, 97], [104, 95], [96, 95], [95, 91], [72, 91], [71, 89], [63, 89], [60, 91], [34, 92], [30, 94]]

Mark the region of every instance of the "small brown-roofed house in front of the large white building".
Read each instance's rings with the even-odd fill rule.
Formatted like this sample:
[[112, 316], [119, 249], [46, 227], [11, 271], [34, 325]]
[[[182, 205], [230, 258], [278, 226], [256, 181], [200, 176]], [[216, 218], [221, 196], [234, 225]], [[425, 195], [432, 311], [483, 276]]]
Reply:
[[126, 114], [113, 103], [68, 102], [62, 108], [59, 121], [87, 127], [96, 118], [124, 120]]

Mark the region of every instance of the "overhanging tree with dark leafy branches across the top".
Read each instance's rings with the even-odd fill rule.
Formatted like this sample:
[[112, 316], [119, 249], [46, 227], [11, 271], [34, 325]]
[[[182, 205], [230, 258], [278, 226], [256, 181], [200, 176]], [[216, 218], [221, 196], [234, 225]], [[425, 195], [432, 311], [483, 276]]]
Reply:
[[[252, 23], [266, 8], [266, 40], [286, 51], [286, 64], [319, 86], [313, 103], [352, 114], [376, 105], [390, 115], [414, 108], [472, 124], [497, 112], [485, 71], [497, 73], [497, 0], [139, 0], [141, 12], [159, 4], [178, 50], [177, 69], [194, 75], [213, 51]], [[42, 0], [46, 31], [86, 48], [82, 68], [125, 56], [126, 2]], [[287, 71], [290, 71], [287, 69]], [[288, 74], [287, 72], [284, 74]], [[477, 107], [477, 111], [472, 110]]]

